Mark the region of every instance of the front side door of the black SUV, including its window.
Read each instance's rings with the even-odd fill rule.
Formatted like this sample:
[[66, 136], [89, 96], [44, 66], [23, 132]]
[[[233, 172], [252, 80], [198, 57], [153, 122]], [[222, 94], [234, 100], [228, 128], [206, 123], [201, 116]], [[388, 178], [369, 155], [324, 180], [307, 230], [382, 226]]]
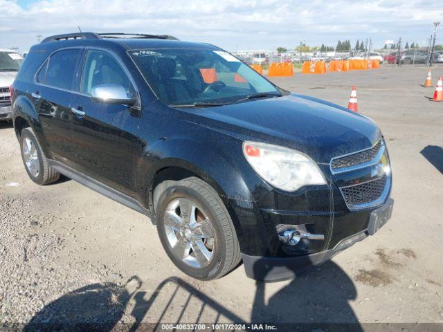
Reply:
[[115, 55], [105, 50], [85, 50], [79, 93], [72, 101], [75, 168], [135, 197], [134, 173], [141, 147], [137, 138], [139, 109], [91, 97], [94, 86], [108, 84], [123, 86], [138, 98], [133, 80]]

